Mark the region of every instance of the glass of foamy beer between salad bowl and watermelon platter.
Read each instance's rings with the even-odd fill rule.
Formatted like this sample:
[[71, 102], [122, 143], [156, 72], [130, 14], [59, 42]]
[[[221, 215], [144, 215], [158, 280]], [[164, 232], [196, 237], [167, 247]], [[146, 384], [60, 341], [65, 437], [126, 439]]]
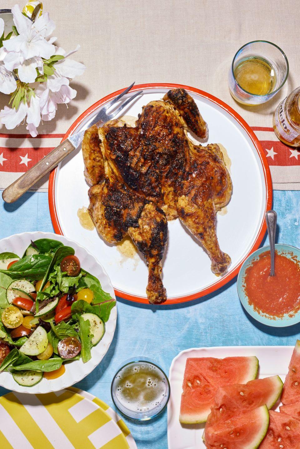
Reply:
[[147, 421], [165, 408], [170, 383], [164, 371], [148, 357], [124, 362], [112, 379], [112, 401], [127, 418]]

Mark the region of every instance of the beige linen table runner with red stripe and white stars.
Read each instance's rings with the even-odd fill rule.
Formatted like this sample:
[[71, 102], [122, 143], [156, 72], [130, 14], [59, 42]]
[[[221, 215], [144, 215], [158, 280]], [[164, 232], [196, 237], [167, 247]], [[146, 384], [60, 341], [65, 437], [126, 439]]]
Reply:
[[[25, 0], [24, 0], [25, 1]], [[1, 0], [11, 8], [15, 0]], [[73, 121], [110, 92], [139, 83], [178, 83], [200, 88], [233, 107], [261, 141], [274, 189], [300, 189], [300, 151], [278, 141], [272, 115], [300, 86], [298, 0], [45, 0], [66, 50], [81, 45], [74, 59], [86, 66], [71, 86], [77, 97], [28, 136], [25, 125], [0, 127], [0, 189], [49, 153]], [[22, 7], [22, 2], [20, 3]], [[282, 91], [262, 106], [244, 107], [230, 96], [228, 69], [236, 51], [251, 40], [269, 40], [286, 53], [290, 75]], [[7, 97], [0, 94], [0, 107]], [[241, 148], [241, 157], [243, 149]], [[47, 191], [47, 179], [36, 188]]]

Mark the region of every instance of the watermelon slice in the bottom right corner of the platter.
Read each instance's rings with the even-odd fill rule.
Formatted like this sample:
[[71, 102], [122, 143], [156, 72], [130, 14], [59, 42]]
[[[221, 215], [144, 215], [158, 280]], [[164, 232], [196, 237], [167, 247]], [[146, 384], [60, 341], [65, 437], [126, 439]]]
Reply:
[[269, 430], [260, 449], [299, 449], [300, 420], [273, 410], [270, 410], [269, 414]]

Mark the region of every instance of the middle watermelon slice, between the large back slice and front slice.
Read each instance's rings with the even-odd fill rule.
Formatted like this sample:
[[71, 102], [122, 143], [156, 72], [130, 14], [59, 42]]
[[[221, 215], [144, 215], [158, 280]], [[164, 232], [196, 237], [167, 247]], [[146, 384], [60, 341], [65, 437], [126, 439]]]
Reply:
[[281, 395], [282, 385], [279, 376], [272, 376], [251, 380], [246, 384], [220, 387], [216, 392], [205, 429], [261, 405], [271, 409]]

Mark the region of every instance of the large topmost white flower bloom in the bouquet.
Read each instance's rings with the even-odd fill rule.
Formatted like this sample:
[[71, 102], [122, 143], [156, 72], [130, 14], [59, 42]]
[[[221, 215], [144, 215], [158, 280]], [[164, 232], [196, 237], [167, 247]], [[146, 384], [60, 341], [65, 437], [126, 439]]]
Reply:
[[55, 53], [55, 46], [45, 37], [55, 29], [55, 24], [49, 19], [49, 13], [40, 16], [36, 22], [25, 17], [18, 5], [12, 8], [13, 21], [19, 35], [3, 41], [7, 54], [4, 66], [7, 70], [18, 69], [18, 78], [24, 83], [33, 83], [36, 79], [36, 68], [42, 72], [42, 57], [49, 59]]

